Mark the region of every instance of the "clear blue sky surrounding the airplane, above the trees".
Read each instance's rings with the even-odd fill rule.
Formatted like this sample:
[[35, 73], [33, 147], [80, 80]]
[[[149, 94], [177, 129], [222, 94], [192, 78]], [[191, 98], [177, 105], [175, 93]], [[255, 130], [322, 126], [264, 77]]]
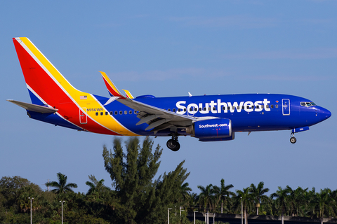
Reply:
[[[108, 96], [98, 71], [134, 96], [284, 93], [311, 99], [329, 120], [296, 134], [238, 133], [234, 141], [180, 137], [164, 148], [158, 174], [179, 162], [187, 182], [337, 189], [337, 1], [1, 1], [0, 176], [46, 189], [61, 172], [86, 192], [88, 175], [105, 179], [103, 144], [111, 136], [29, 119], [6, 102], [30, 102], [12, 38], [27, 36], [77, 89]], [[123, 140], [127, 140], [126, 137]]]

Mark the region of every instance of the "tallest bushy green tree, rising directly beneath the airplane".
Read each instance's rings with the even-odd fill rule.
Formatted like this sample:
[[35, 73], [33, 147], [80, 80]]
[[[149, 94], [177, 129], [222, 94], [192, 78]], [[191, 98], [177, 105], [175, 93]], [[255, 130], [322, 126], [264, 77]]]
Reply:
[[140, 146], [138, 138], [126, 141], [126, 153], [123, 152], [121, 139], [113, 141], [113, 152], [103, 146], [105, 170], [112, 179], [116, 206], [114, 223], [151, 223], [156, 220], [164, 223], [167, 208], [172, 203], [180, 206], [180, 190], [187, 179], [183, 162], [173, 172], [152, 182], [157, 174], [162, 153], [157, 146], [152, 153], [153, 141], [145, 139]]

